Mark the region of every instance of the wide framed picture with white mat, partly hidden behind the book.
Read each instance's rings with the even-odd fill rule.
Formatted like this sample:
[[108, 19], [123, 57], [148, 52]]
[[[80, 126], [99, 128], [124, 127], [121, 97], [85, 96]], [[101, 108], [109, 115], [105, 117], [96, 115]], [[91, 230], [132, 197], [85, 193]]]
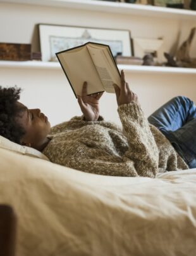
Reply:
[[39, 24], [39, 37], [44, 62], [58, 62], [55, 53], [89, 41], [109, 45], [114, 57], [132, 56], [129, 30]]

